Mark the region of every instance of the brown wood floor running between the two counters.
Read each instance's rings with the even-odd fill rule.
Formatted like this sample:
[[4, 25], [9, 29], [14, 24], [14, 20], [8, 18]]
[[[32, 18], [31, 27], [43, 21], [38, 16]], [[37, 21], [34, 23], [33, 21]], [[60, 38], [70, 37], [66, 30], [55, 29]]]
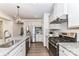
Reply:
[[32, 43], [27, 56], [49, 56], [49, 53], [43, 43]]

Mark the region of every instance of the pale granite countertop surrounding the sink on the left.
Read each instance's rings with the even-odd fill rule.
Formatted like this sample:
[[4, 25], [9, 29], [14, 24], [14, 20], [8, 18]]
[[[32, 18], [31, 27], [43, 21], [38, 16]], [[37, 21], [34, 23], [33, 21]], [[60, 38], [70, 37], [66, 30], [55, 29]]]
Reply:
[[0, 56], [6, 56], [7, 54], [9, 54], [12, 50], [14, 50], [19, 44], [21, 44], [22, 42], [24, 42], [26, 40], [26, 38], [28, 38], [29, 36], [24, 37], [14, 37], [13, 39], [16, 40], [20, 40], [19, 42], [17, 42], [16, 44], [14, 44], [13, 46], [9, 47], [9, 48], [0, 48]]

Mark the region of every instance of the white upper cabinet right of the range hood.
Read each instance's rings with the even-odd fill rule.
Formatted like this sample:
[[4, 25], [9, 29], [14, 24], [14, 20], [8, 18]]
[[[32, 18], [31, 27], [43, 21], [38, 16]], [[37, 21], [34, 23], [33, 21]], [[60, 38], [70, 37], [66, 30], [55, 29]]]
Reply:
[[79, 4], [68, 4], [68, 27], [79, 27]]

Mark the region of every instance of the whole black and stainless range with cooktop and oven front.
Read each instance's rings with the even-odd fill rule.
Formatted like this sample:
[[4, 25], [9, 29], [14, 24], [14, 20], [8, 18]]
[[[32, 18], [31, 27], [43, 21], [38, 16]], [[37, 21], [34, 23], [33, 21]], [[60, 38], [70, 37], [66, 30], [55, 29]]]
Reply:
[[66, 36], [49, 37], [49, 55], [59, 56], [59, 44], [60, 42], [76, 42], [76, 37], [70, 38]]

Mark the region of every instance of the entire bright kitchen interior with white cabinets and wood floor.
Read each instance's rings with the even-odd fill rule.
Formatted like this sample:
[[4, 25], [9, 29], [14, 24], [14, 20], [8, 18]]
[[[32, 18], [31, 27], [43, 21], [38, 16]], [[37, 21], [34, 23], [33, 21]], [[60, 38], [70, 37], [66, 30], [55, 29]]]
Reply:
[[0, 56], [79, 56], [78, 5], [0, 4]]

